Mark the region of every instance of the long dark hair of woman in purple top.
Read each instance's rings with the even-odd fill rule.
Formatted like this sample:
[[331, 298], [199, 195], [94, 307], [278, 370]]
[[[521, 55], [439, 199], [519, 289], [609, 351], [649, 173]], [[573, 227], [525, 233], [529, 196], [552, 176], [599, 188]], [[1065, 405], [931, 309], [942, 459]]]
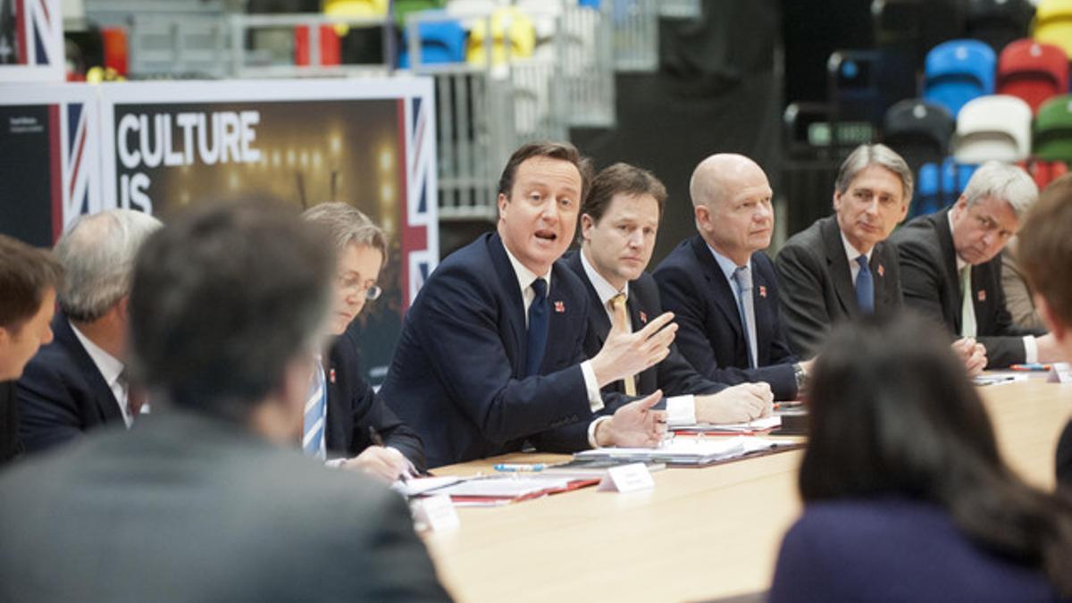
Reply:
[[1072, 502], [1004, 465], [982, 400], [930, 323], [902, 315], [835, 328], [807, 401], [806, 502], [894, 495], [938, 504], [978, 545], [1041, 568], [1072, 594]]

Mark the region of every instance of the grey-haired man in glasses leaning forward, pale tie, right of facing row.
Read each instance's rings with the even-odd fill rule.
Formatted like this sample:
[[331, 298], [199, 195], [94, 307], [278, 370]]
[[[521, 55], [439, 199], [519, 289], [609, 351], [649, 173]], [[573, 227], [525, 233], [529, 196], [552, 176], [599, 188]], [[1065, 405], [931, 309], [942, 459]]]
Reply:
[[1013, 325], [1001, 290], [998, 254], [1038, 197], [1024, 171], [984, 163], [953, 207], [915, 218], [892, 237], [907, 306], [974, 337], [989, 368], [1058, 356], [1053, 336]]

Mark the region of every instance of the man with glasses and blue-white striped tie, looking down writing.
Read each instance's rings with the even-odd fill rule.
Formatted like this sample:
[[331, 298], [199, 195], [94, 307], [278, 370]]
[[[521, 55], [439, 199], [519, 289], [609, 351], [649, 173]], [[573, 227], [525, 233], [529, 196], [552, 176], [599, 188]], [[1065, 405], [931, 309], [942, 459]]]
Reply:
[[387, 481], [410, 476], [425, 469], [420, 438], [361, 378], [356, 342], [346, 333], [364, 303], [379, 297], [376, 279], [387, 261], [387, 237], [368, 216], [345, 203], [322, 203], [302, 218], [334, 246], [339, 277], [327, 323], [332, 340], [313, 371], [301, 447], [310, 456], [329, 458], [329, 465]]

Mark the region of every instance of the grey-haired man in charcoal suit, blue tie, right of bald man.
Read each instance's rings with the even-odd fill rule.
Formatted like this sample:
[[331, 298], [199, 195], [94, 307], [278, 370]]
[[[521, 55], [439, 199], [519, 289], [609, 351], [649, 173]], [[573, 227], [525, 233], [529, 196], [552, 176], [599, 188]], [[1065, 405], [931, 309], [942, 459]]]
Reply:
[[[887, 240], [908, 214], [912, 171], [885, 145], [860, 145], [842, 163], [834, 215], [793, 235], [778, 252], [781, 312], [789, 342], [813, 356], [830, 327], [864, 314], [900, 311], [897, 250]], [[986, 364], [973, 339], [954, 343], [970, 372]]]

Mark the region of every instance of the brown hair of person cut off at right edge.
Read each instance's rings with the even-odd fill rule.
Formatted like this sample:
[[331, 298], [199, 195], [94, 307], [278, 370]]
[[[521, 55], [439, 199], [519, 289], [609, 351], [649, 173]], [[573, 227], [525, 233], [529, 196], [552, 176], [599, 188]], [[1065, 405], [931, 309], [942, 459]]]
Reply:
[[1072, 326], [1072, 174], [1046, 187], [1016, 236], [1016, 259], [1031, 290]]

